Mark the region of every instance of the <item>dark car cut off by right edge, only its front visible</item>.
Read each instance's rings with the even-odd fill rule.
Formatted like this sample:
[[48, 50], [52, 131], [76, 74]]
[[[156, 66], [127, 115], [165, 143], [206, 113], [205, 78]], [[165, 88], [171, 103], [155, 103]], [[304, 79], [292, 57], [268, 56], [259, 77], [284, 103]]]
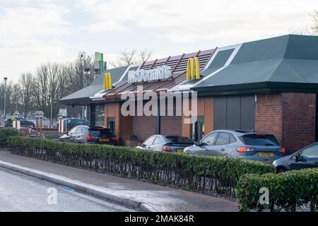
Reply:
[[318, 142], [273, 162], [277, 172], [318, 167]]

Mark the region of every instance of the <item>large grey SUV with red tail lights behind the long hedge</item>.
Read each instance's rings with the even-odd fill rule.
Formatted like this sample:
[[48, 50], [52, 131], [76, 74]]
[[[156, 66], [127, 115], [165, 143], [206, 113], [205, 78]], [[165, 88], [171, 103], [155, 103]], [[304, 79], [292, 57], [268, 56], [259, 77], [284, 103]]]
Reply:
[[245, 157], [272, 163], [286, 155], [275, 136], [251, 131], [218, 130], [208, 133], [195, 145], [184, 149], [184, 153], [216, 155], [224, 157]]

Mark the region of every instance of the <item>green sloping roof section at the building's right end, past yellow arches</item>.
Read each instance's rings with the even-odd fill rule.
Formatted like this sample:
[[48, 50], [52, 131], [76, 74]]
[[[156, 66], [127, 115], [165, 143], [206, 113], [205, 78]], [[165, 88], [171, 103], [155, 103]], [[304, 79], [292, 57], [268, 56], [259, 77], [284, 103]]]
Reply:
[[[212, 66], [212, 67], [211, 67]], [[193, 90], [211, 94], [269, 90], [318, 92], [318, 37], [284, 35], [243, 43], [229, 66], [202, 71]], [[204, 79], [204, 77], [208, 77]]]

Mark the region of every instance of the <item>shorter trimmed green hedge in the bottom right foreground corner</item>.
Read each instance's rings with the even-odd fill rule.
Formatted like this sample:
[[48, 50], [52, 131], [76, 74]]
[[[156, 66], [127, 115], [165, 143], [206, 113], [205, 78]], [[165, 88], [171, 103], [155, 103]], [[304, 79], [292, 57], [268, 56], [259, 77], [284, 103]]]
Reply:
[[[269, 205], [259, 203], [262, 187], [269, 189]], [[238, 182], [236, 191], [241, 211], [294, 212], [302, 205], [310, 205], [311, 211], [318, 211], [318, 168], [281, 174], [246, 174]]]

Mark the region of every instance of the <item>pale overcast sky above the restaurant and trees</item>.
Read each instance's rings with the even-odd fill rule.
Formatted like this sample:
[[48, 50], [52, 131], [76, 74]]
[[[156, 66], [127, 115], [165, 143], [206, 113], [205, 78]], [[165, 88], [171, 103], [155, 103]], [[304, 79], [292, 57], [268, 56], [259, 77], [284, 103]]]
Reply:
[[317, 0], [0, 0], [0, 76], [80, 51], [157, 58], [285, 35], [310, 26], [314, 10]]

